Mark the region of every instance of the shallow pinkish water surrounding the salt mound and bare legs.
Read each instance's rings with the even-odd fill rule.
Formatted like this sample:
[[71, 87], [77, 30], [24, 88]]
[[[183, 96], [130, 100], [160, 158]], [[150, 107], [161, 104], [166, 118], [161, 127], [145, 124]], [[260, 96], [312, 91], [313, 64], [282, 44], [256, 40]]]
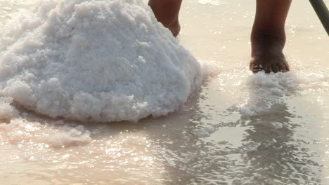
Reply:
[[[1, 1], [0, 22], [29, 1]], [[328, 1], [326, 1], [328, 4]], [[180, 43], [210, 77], [180, 111], [77, 123], [15, 105], [0, 184], [329, 184], [329, 47], [307, 1], [287, 21], [287, 74], [248, 71], [254, 1], [185, 1]]]

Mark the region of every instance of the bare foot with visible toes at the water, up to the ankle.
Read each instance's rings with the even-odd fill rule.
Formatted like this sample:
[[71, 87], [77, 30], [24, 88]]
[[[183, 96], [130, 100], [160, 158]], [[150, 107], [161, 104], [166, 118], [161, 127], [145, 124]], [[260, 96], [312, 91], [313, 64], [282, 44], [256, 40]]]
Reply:
[[259, 39], [252, 42], [250, 70], [254, 73], [263, 70], [266, 73], [290, 71], [283, 55], [283, 43], [273, 36], [259, 36]]

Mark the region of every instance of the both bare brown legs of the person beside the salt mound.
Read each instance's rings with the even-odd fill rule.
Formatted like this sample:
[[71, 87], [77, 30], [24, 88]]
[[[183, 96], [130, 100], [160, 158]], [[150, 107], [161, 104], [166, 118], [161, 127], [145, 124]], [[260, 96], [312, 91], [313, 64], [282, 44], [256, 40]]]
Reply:
[[[149, 0], [155, 17], [174, 36], [179, 34], [179, 9], [182, 0]], [[283, 55], [285, 46], [285, 19], [292, 0], [257, 0], [256, 17], [252, 27], [252, 60], [250, 70], [289, 71]]]

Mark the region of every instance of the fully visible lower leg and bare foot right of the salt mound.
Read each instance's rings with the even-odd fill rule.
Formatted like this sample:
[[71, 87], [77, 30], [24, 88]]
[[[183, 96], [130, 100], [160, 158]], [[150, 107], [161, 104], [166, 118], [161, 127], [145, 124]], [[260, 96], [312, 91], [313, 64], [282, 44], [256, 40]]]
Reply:
[[285, 46], [285, 19], [291, 0], [257, 0], [257, 10], [252, 27], [252, 61], [254, 72], [289, 71], [283, 55]]

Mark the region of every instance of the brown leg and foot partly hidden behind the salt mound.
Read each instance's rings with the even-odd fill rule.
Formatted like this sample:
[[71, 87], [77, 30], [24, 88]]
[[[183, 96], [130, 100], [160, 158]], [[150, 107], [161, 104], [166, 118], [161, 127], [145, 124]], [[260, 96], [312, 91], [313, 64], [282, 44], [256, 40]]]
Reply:
[[150, 0], [148, 5], [152, 8], [157, 21], [177, 36], [181, 31], [181, 25], [179, 25], [181, 0]]

